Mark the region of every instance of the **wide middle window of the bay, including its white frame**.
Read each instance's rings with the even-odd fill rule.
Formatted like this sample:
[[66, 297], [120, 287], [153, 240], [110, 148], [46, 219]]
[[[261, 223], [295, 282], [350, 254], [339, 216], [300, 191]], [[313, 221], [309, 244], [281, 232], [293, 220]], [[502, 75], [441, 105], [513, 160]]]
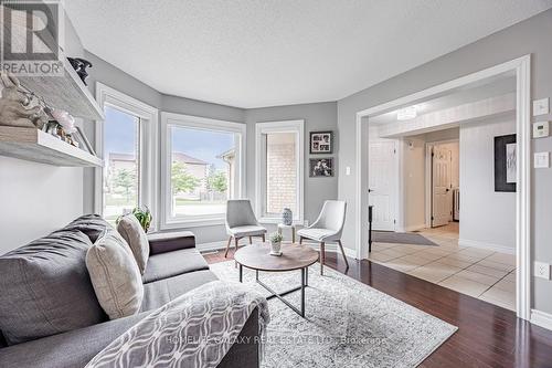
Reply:
[[161, 114], [164, 228], [223, 223], [242, 197], [245, 124]]

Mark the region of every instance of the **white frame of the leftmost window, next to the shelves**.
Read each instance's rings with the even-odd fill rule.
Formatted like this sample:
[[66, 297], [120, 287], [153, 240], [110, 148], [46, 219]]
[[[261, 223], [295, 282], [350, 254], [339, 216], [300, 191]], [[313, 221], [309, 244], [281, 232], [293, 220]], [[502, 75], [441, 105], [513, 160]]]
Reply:
[[[147, 206], [153, 219], [158, 218], [158, 116], [159, 111], [153, 106], [147, 105], [141, 101], [132, 98], [115, 88], [112, 88], [103, 83], [96, 82], [96, 101], [102, 111], [106, 106], [114, 107], [124, 113], [134, 115], [140, 119], [139, 126], [139, 192], [138, 204]], [[104, 122], [96, 120], [96, 153], [98, 156], [104, 156]], [[105, 157], [104, 161], [105, 161]], [[107, 164], [107, 162], [106, 162]], [[104, 193], [103, 180], [104, 168], [95, 169], [94, 180], [94, 210], [96, 213], [103, 214]], [[158, 223], [153, 220], [150, 231], [156, 231]]]

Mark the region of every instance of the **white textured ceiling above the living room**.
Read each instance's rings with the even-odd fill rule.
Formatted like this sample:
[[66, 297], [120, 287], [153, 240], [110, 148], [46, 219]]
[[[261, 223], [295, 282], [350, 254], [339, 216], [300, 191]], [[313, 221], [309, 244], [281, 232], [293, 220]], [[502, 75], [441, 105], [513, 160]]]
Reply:
[[251, 108], [346, 97], [544, 11], [552, 0], [70, 0], [65, 7], [88, 51], [159, 92]]

